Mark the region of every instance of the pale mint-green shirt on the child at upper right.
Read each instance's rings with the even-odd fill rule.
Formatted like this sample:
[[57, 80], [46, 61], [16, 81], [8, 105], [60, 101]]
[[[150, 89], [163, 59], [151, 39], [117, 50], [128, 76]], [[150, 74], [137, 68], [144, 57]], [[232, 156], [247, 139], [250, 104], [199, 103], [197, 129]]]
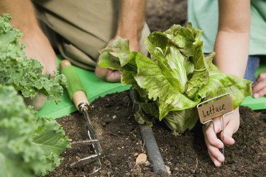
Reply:
[[[266, 0], [251, 0], [250, 55], [266, 55]], [[204, 31], [204, 53], [214, 50], [218, 0], [188, 0], [188, 21]]]

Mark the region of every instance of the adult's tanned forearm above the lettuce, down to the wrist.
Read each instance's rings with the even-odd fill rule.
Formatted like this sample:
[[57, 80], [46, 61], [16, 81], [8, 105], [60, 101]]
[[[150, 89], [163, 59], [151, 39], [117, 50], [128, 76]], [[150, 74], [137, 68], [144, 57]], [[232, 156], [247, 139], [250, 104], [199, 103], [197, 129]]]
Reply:
[[116, 36], [140, 38], [145, 21], [145, 0], [121, 0]]

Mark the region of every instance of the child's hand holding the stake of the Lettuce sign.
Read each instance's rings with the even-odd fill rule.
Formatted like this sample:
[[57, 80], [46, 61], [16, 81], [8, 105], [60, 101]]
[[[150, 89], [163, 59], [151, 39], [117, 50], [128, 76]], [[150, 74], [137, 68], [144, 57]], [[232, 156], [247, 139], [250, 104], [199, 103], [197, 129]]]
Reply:
[[[221, 163], [225, 161], [225, 157], [219, 149], [222, 149], [224, 144], [232, 145], [235, 143], [232, 136], [238, 130], [239, 123], [240, 115], [237, 108], [233, 113], [228, 114], [223, 118], [224, 130], [221, 117], [214, 119], [215, 132], [211, 122], [203, 126], [205, 143], [211, 161], [214, 162], [215, 166], [221, 166]], [[223, 141], [221, 139], [223, 139]]]

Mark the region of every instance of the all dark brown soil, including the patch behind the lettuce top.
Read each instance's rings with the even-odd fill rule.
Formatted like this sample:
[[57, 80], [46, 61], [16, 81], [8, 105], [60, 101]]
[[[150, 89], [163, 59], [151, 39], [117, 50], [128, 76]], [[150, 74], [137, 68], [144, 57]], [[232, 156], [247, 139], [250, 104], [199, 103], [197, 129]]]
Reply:
[[[164, 31], [172, 23], [187, 21], [187, 1], [148, 1], [147, 22], [151, 31]], [[171, 13], [168, 13], [171, 12]], [[177, 18], [178, 17], [178, 18]], [[153, 172], [149, 157], [145, 159], [145, 143], [133, 118], [129, 92], [101, 97], [92, 102], [89, 117], [101, 143], [103, 154], [99, 161], [70, 167], [77, 159], [93, 155], [84, 115], [79, 112], [57, 119], [72, 148], [62, 154], [61, 166], [47, 177], [55, 176], [163, 176]], [[240, 107], [240, 128], [234, 134], [235, 145], [226, 146], [226, 163], [216, 168], [209, 159], [201, 124], [192, 131], [173, 135], [164, 124], [156, 122], [153, 132], [157, 145], [171, 176], [266, 176], [266, 110], [253, 111]]]

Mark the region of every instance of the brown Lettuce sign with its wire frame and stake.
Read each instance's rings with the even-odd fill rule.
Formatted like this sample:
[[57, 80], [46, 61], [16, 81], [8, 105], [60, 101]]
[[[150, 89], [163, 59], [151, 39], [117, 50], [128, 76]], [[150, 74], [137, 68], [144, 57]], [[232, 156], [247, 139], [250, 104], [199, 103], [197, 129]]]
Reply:
[[[222, 98], [223, 97], [223, 98]], [[216, 100], [216, 101], [214, 101]], [[201, 124], [206, 124], [211, 122], [214, 127], [214, 118], [221, 116], [222, 128], [224, 129], [223, 119], [226, 115], [231, 114], [233, 112], [233, 102], [232, 97], [228, 93], [213, 97], [204, 102], [200, 102], [196, 105], [199, 113], [199, 119]], [[215, 132], [215, 127], [214, 127]], [[223, 139], [222, 139], [223, 141]], [[222, 153], [224, 156], [224, 146], [222, 149]], [[223, 163], [224, 164], [224, 163]]]

